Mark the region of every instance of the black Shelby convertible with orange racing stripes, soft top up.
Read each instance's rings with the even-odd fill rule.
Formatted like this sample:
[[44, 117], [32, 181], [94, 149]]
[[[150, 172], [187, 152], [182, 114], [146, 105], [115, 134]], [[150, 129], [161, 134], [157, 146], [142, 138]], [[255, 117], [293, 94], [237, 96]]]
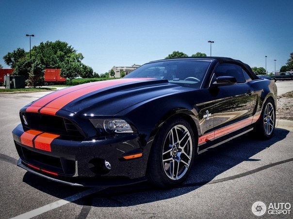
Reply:
[[198, 154], [255, 129], [271, 138], [277, 86], [223, 57], [146, 63], [123, 79], [50, 93], [20, 110], [18, 166], [73, 186], [182, 183]]

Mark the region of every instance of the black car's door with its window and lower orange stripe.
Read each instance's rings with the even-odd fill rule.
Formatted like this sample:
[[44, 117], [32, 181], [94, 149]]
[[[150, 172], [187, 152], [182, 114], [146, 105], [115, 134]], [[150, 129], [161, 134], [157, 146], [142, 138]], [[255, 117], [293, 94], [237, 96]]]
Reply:
[[255, 91], [250, 86], [245, 70], [232, 63], [219, 64], [212, 77], [211, 84], [217, 77], [236, 78], [236, 84], [212, 88], [214, 139], [250, 125], [255, 105]]

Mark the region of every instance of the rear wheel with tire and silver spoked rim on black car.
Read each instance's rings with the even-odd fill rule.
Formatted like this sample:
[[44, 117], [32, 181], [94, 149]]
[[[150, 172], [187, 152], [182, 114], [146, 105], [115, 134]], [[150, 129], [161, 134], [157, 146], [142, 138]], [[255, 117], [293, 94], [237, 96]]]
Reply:
[[263, 105], [260, 114], [260, 120], [255, 126], [255, 133], [260, 139], [270, 139], [275, 132], [276, 125], [276, 108], [274, 101], [268, 99]]

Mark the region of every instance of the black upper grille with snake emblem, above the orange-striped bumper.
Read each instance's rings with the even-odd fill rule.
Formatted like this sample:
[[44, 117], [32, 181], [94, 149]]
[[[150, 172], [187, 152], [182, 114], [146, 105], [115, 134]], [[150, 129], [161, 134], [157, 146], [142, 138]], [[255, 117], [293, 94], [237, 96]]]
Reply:
[[50, 132], [62, 136], [82, 138], [83, 135], [78, 125], [68, 119], [41, 113], [25, 112], [28, 125], [24, 124], [22, 115], [20, 116], [22, 125], [29, 129]]

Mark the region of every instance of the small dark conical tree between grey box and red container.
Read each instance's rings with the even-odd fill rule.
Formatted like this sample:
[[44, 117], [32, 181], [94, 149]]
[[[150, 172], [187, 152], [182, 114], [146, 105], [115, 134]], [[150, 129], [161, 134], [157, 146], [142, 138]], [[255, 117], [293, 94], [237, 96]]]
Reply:
[[44, 82], [45, 66], [41, 64], [39, 60], [36, 60], [32, 64], [32, 68], [29, 73], [29, 78], [26, 83], [30, 87], [41, 86]]

